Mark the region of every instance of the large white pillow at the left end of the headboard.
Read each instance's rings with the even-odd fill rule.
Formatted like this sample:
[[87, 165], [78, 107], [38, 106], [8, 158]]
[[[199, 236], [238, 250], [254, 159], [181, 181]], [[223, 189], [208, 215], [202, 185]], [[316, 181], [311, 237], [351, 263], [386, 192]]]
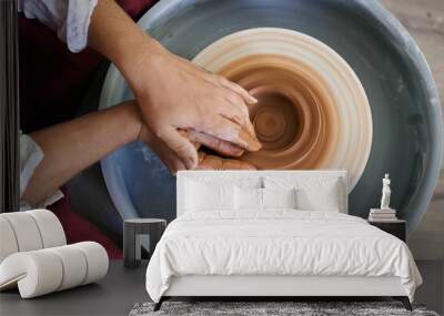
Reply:
[[188, 182], [186, 212], [234, 210], [234, 185]]

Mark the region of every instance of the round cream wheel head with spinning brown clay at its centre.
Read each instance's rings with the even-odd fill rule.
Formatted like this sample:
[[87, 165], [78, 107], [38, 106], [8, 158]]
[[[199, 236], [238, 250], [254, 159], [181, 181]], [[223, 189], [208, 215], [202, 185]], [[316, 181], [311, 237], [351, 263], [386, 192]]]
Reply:
[[372, 145], [365, 91], [349, 64], [316, 39], [286, 29], [235, 32], [193, 62], [241, 84], [263, 149], [241, 157], [259, 170], [349, 172], [353, 190]]

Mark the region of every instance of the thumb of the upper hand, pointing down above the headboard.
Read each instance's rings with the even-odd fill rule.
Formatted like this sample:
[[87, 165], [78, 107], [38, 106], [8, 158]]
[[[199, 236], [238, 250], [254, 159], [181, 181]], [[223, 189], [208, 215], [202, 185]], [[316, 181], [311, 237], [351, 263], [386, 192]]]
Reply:
[[198, 152], [194, 145], [178, 130], [171, 126], [162, 129], [157, 136], [161, 139], [173, 151], [186, 169], [195, 169], [198, 166]]

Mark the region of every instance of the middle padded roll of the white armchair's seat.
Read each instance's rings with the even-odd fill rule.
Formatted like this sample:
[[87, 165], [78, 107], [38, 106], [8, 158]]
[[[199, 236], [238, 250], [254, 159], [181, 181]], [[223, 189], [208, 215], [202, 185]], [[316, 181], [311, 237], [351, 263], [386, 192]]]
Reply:
[[49, 248], [48, 251], [57, 254], [63, 264], [63, 279], [58, 290], [71, 288], [83, 283], [87, 276], [88, 263], [78, 247], [69, 245]]

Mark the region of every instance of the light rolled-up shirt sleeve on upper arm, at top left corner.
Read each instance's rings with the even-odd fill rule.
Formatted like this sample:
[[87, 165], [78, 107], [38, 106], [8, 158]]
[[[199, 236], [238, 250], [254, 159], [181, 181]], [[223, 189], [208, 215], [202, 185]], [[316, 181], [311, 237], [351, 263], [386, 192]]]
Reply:
[[57, 31], [72, 52], [87, 47], [88, 28], [98, 0], [19, 0], [19, 12]]

